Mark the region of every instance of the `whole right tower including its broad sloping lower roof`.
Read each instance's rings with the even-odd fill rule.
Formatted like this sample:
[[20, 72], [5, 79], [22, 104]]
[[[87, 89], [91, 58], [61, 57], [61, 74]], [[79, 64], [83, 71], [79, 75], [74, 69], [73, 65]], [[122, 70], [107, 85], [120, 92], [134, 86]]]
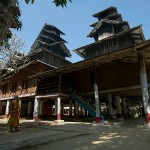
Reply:
[[74, 50], [84, 59], [120, 51], [145, 41], [141, 25], [130, 28], [116, 7], [109, 7], [93, 17], [98, 21], [91, 25], [93, 30], [88, 37], [94, 38], [95, 42]]

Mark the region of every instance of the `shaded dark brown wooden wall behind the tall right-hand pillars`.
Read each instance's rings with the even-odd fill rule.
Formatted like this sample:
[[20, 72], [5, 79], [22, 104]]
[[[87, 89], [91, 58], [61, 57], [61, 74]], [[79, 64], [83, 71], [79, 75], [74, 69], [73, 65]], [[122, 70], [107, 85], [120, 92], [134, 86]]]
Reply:
[[[140, 85], [138, 64], [118, 62], [97, 67], [97, 82], [99, 90], [108, 90]], [[148, 82], [150, 71], [147, 67]], [[82, 70], [72, 74], [72, 84], [78, 92], [93, 92], [93, 70]]]

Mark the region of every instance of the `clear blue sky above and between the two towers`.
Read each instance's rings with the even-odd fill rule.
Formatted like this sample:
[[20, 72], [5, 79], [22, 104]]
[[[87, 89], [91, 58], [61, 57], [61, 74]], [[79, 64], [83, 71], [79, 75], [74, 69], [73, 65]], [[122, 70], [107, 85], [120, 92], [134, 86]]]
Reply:
[[61, 36], [70, 50], [71, 62], [81, 61], [74, 49], [94, 42], [87, 37], [92, 30], [90, 25], [97, 22], [93, 14], [110, 6], [117, 7], [124, 21], [130, 27], [142, 24], [146, 39], [150, 39], [150, 0], [72, 0], [66, 8], [56, 7], [53, 0], [35, 0], [34, 4], [26, 4], [19, 0], [21, 9], [21, 31], [15, 31], [18, 37], [25, 41], [24, 52], [28, 53], [36, 37], [45, 23], [56, 26], [66, 35]]

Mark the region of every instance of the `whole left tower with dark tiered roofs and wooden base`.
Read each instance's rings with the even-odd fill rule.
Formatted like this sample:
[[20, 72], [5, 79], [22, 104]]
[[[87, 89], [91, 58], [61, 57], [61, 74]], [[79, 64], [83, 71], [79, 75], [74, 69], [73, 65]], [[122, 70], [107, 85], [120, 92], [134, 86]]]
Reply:
[[55, 26], [45, 24], [29, 51], [30, 60], [38, 59], [54, 67], [70, 64], [66, 57], [71, 54], [61, 35], [65, 34]]

